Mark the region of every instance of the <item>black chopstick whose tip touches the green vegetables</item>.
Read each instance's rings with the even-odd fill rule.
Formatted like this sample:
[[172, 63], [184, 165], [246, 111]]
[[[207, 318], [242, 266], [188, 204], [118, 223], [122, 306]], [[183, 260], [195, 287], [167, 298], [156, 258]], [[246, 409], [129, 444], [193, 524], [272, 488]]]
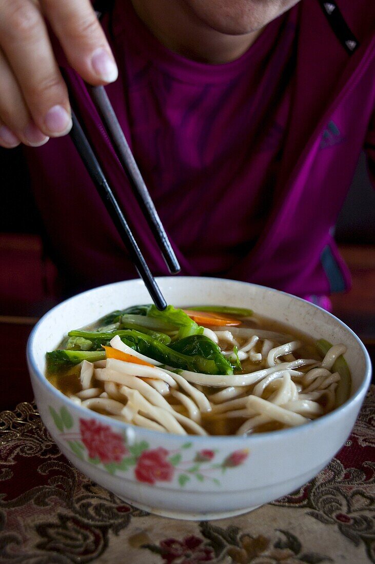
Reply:
[[126, 219], [117, 204], [116, 198], [105, 179], [98, 159], [96, 158], [94, 151], [92, 151], [90, 143], [87, 140], [74, 112], [72, 112], [72, 121], [73, 127], [70, 130], [70, 138], [72, 138], [73, 143], [86, 166], [87, 172], [90, 174], [91, 180], [94, 182], [95, 188], [98, 191], [99, 196], [102, 198], [102, 201], [107, 208], [123, 243], [129, 251], [130, 258], [132, 259], [136, 270], [138, 270], [140, 277], [142, 277], [145, 287], [147, 288], [153, 302], [158, 310], [164, 310], [167, 303], [156, 283], [155, 278], [152, 276], [138, 245], [136, 244], [133, 233], [131, 232]]

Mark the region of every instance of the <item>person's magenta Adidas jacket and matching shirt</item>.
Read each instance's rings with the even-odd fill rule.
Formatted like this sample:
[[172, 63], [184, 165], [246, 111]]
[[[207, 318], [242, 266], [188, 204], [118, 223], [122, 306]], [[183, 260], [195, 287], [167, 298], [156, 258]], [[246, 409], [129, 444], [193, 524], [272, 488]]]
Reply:
[[[350, 283], [331, 230], [364, 143], [373, 151], [375, 8], [338, 2], [350, 55], [319, 2], [267, 25], [239, 59], [162, 46], [129, 0], [103, 26], [120, 69], [107, 87], [182, 274], [252, 281], [319, 301]], [[80, 113], [153, 274], [164, 261], [82, 81]], [[69, 138], [29, 151], [33, 190], [70, 290], [136, 276]]]

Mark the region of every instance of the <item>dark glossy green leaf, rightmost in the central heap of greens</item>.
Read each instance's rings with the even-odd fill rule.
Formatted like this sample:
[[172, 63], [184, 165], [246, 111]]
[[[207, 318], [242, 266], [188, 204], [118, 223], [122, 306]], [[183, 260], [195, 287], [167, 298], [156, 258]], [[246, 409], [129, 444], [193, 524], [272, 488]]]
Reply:
[[[185, 337], [173, 343], [173, 345], [170, 345], [169, 348], [187, 356], [213, 360], [218, 370], [218, 372], [214, 372], [216, 374], [233, 373], [230, 363], [222, 354], [218, 345], [205, 335], [191, 335], [190, 337]], [[204, 363], [202, 364], [204, 365]], [[200, 370], [200, 372], [203, 371]]]

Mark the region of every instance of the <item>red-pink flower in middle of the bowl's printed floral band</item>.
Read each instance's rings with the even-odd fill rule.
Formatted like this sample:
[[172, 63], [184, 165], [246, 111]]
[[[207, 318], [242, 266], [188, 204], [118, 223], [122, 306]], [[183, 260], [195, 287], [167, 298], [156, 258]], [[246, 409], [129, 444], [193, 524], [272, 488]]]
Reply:
[[136, 479], [148, 484], [170, 482], [173, 479], [174, 468], [166, 459], [168, 455], [169, 452], [162, 447], [153, 451], [143, 451], [134, 470]]

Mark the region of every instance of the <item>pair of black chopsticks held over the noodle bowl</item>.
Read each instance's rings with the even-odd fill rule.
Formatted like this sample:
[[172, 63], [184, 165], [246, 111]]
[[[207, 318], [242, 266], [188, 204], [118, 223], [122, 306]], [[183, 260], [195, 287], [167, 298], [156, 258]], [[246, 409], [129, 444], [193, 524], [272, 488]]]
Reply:
[[[114, 110], [112, 108], [112, 104], [107, 96], [107, 92], [105, 92], [104, 86], [87, 86], [87, 88], [90, 92], [91, 99], [94, 102], [95, 108], [102, 118], [109, 139], [111, 139], [113, 148], [116, 151], [118, 160], [120, 161], [122, 168], [125, 171], [127, 178], [129, 179], [130, 186], [136, 196], [136, 199], [148, 223], [148, 226], [151, 228], [153, 236], [155, 237], [158, 248], [160, 249], [161, 254], [164, 257], [166, 265], [171, 274], [177, 274], [177, 272], [180, 271], [177, 257], [171, 247], [164, 227], [162, 226], [160, 218], [155, 209], [155, 205], [153, 204], [151, 196], [149, 195], [147, 187], [145, 186], [142, 175], [140, 174], [139, 168], [136, 165], [134, 157], [131, 153], [130, 147], [127, 144], [125, 135], [123, 134], [116, 114], [114, 113]], [[73, 143], [76, 146], [76, 149], [80, 154], [88, 173], [90, 174], [91, 180], [92, 182], [94, 182], [95, 188], [98, 191], [99, 196], [102, 198], [102, 201], [107, 208], [108, 213], [111, 216], [112, 221], [116, 226], [117, 231], [120, 234], [121, 239], [130, 254], [130, 258], [133, 261], [136, 270], [138, 271], [140, 277], [142, 277], [145, 287], [147, 288], [153, 302], [159, 310], [164, 310], [167, 306], [167, 303], [156, 283], [155, 278], [152, 276], [147, 263], [145, 262], [143, 254], [140, 251], [138, 244], [136, 243], [136, 240], [130, 230], [126, 218], [123, 215], [120, 206], [118, 205], [116, 197], [114, 196], [112, 189], [107, 182], [107, 179], [105, 178], [98, 158], [95, 156], [90, 142], [87, 139], [74, 112], [72, 112], [72, 120], [73, 127], [70, 130], [70, 137], [72, 138]]]

